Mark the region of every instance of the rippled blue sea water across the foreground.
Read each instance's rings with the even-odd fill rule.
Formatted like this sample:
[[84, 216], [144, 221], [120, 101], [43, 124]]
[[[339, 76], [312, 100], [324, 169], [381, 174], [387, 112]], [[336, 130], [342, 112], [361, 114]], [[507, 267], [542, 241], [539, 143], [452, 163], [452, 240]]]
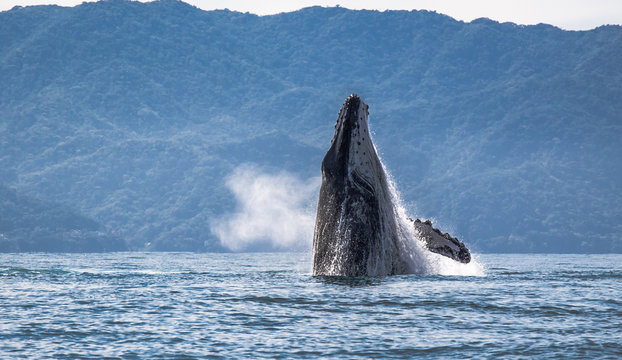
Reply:
[[622, 358], [622, 255], [316, 278], [310, 254], [0, 255], [1, 358]]

